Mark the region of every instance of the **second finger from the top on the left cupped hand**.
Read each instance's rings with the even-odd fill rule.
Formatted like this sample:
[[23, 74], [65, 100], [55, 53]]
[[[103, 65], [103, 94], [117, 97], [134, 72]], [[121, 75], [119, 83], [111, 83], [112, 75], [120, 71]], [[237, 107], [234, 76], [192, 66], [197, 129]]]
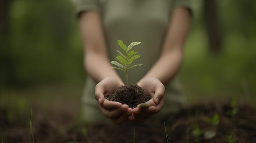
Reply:
[[106, 110], [104, 108], [102, 108], [101, 106], [99, 106], [99, 109], [101, 110], [102, 114], [110, 119], [115, 119], [117, 117], [119, 117], [121, 114], [123, 114], [124, 112], [127, 111], [128, 106], [124, 105], [121, 106], [120, 108], [114, 109], [114, 110]]

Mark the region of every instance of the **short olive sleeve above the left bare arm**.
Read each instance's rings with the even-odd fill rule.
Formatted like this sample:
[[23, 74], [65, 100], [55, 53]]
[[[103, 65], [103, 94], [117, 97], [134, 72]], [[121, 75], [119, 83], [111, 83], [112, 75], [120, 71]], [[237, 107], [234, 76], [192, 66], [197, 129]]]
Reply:
[[74, 0], [76, 17], [83, 11], [99, 11], [99, 0]]

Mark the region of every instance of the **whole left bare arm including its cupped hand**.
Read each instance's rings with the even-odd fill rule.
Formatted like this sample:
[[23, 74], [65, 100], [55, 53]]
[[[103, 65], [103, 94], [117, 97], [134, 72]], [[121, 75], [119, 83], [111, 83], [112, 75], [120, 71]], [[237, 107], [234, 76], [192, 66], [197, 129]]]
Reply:
[[128, 119], [132, 114], [132, 109], [128, 108], [128, 105], [104, 98], [104, 94], [114, 92], [124, 83], [116, 71], [111, 69], [99, 13], [93, 11], [81, 13], [79, 24], [84, 47], [85, 69], [88, 75], [98, 83], [95, 87], [95, 99], [99, 103], [99, 109], [113, 123], [121, 124], [129, 119], [132, 120], [132, 117]]

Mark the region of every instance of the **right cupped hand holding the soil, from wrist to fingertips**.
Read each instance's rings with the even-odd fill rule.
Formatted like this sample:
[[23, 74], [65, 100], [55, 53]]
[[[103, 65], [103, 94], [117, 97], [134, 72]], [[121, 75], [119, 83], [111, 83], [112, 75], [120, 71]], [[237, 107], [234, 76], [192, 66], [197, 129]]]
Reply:
[[162, 82], [156, 78], [144, 79], [143, 81], [139, 81], [137, 85], [143, 88], [152, 97], [152, 99], [146, 102], [150, 106], [148, 109], [140, 108], [140, 105], [138, 105], [132, 110], [132, 115], [135, 117], [134, 121], [143, 123], [162, 109], [164, 105], [165, 87]]

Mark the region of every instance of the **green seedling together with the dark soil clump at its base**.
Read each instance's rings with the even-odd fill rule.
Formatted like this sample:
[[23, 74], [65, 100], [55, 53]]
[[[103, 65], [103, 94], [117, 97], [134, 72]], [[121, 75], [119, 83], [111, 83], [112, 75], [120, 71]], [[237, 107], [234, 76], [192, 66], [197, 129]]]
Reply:
[[117, 50], [119, 55], [117, 55], [115, 59], [117, 59], [119, 62], [112, 61], [111, 64], [118, 66], [112, 68], [124, 70], [126, 72], [126, 86], [119, 87], [114, 93], [105, 95], [105, 98], [110, 101], [117, 101], [122, 104], [127, 104], [130, 108], [135, 108], [138, 104], [145, 103], [151, 98], [150, 95], [138, 85], [129, 85], [128, 80], [128, 69], [134, 68], [135, 66], [145, 66], [144, 64], [136, 64], [131, 66], [132, 62], [140, 57], [140, 55], [137, 54], [138, 52], [131, 49], [133, 46], [141, 44], [141, 42], [132, 42], [128, 46], [126, 46], [121, 40], [118, 40], [117, 42], [124, 53]]

